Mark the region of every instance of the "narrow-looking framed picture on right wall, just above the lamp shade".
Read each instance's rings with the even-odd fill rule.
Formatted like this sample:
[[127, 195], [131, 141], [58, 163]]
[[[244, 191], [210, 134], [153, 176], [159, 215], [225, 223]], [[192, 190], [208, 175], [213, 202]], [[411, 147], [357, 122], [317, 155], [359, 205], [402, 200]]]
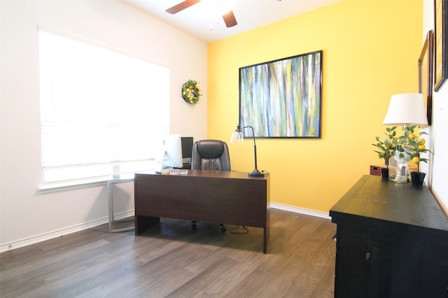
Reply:
[[433, 115], [433, 52], [433, 30], [430, 30], [419, 57], [419, 93], [423, 94], [423, 100], [426, 101], [428, 125], [431, 125]]

